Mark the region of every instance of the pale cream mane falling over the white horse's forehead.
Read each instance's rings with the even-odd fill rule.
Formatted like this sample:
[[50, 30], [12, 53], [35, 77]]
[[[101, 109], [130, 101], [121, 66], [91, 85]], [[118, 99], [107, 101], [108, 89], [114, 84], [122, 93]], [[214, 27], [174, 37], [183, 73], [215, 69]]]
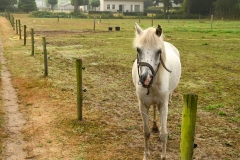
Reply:
[[156, 35], [156, 28], [149, 27], [146, 30], [143, 30], [140, 34], [136, 31], [136, 37], [133, 41], [133, 46], [136, 47], [142, 47], [147, 46], [150, 48], [159, 49], [160, 47], [164, 47], [164, 38], [163, 34], [158, 37]]

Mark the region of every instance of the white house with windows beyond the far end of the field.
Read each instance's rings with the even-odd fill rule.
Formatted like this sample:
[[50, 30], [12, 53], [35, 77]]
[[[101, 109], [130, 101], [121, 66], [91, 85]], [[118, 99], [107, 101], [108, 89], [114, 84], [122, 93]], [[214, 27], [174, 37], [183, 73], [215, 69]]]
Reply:
[[100, 0], [100, 11], [143, 12], [144, 0]]

